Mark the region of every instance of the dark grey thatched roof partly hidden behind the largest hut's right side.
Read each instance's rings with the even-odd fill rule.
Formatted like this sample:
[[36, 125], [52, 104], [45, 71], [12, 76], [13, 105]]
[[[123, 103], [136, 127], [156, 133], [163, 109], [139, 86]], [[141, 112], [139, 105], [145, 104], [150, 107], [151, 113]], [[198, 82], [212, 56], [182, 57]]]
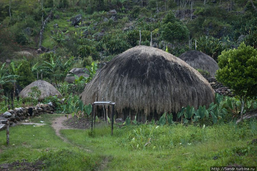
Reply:
[[190, 50], [179, 56], [180, 59], [188, 63], [194, 69], [202, 69], [208, 71], [212, 77], [219, 69], [217, 62], [212, 57], [200, 51]]

